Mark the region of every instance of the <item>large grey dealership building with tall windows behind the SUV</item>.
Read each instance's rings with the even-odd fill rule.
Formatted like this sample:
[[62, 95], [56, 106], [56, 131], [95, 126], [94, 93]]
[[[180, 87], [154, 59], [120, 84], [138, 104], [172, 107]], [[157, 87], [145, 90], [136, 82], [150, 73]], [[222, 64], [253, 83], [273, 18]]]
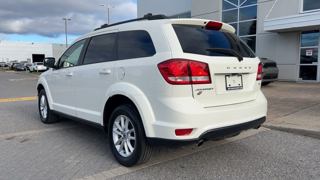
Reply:
[[257, 56], [277, 62], [279, 80], [320, 82], [320, 0], [138, 0], [137, 7], [138, 17], [228, 23]]

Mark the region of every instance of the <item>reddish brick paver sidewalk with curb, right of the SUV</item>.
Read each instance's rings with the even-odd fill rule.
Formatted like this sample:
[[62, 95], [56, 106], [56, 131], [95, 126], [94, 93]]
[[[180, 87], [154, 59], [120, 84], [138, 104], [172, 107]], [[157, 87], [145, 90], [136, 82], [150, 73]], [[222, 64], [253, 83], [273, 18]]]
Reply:
[[320, 83], [278, 81], [261, 90], [268, 100], [264, 127], [320, 138]]

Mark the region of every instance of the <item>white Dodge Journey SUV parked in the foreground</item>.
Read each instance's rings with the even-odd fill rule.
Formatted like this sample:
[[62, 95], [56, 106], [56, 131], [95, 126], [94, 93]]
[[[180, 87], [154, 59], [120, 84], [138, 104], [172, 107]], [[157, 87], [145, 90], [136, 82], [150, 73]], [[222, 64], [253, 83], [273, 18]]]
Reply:
[[76, 39], [38, 80], [44, 123], [64, 116], [108, 132], [124, 166], [153, 147], [200, 146], [259, 128], [261, 63], [225, 23], [147, 14]]

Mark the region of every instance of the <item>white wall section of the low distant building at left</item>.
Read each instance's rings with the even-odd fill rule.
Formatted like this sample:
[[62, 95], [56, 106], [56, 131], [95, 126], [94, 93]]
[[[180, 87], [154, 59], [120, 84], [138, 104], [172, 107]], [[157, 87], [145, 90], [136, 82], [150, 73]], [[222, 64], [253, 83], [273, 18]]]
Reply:
[[52, 43], [0, 41], [0, 61], [32, 61], [32, 54], [52, 57]]

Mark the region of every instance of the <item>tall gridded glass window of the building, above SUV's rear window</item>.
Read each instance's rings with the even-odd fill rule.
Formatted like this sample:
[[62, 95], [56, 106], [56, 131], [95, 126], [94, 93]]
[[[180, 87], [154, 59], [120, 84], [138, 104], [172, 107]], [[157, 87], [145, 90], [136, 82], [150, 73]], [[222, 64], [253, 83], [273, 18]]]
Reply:
[[238, 35], [255, 52], [257, 36], [257, 0], [222, 0], [222, 22], [236, 29]]

